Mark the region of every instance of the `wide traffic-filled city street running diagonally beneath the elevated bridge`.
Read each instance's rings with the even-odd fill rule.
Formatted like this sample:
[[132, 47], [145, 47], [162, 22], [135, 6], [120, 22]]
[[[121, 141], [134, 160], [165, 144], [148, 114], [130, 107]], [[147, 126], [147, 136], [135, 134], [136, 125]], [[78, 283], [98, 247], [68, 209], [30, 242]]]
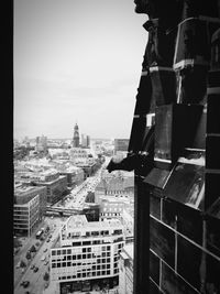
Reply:
[[[81, 185], [75, 187], [70, 195], [67, 195], [63, 202], [57, 203], [54, 207], [65, 207], [65, 208], [84, 208], [85, 199], [88, 192], [94, 192], [98, 183], [100, 182], [101, 170], [96, 173], [96, 175], [88, 177]], [[14, 294], [23, 294], [25, 292], [31, 294], [42, 294], [45, 290], [46, 281], [44, 281], [43, 276], [45, 272], [50, 272], [50, 249], [55, 244], [58, 238], [58, 232], [61, 227], [63, 226], [66, 218], [62, 217], [45, 217], [44, 220], [38, 225], [37, 229], [42, 227], [50, 227], [50, 231], [43, 241], [40, 241], [35, 238], [35, 232], [32, 235], [30, 239], [25, 239], [25, 242], [20, 250], [20, 252], [14, 257]], [[48, 236], [52, 235], [50, 241]], [[28, 262], [25, 255], [28, 250], [32, 247], [32, 244], [36, 244], [40, 242], [41, 244], [37, 248], [37, 252], [35, 255]], [[36, 247], [36, 246], [35, 246]], [[32, 253], [33, 254], [33, 253]], [[45, 257], [42, 260], [42, 257]], [[28, 264], [26, 268], [21, 269], [18, 266], [18, 263], [23, 260]], [[37, 268], [34, 272], [34, 266]], [[22, 272], [23, 271], [23, 272]], [[22, 282], [29, 281], [30, 284], [28, 287], [21, 285]], [[50, 285], [46, 288], [46, 292], [50, 292]], [[53, 292], [53, 291], [52, 291]]]

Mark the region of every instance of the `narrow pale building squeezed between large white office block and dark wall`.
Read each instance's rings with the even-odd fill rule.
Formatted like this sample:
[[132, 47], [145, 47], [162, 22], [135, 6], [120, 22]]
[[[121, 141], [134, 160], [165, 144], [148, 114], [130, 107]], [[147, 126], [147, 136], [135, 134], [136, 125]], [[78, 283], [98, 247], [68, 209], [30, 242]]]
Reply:
[[[133, 294], [133, 243], [125, 244], [120, 253], [119, 284], [120, 294]], [[147, 291], [146, 291], [147, 293]]]

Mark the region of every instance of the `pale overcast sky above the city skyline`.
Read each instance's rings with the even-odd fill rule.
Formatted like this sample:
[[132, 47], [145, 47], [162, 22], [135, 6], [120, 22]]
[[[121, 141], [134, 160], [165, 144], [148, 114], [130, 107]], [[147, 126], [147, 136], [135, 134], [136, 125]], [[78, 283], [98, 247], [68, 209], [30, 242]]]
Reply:
[[14, 0], [13, 137], [130, 138], [147, 42], [132, 0]]

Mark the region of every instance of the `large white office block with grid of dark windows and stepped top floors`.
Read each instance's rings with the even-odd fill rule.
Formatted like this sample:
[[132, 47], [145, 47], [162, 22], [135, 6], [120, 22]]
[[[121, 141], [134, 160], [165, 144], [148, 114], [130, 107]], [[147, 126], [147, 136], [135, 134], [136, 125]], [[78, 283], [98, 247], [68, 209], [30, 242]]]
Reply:
[[61, 229], [59, 247], [51, 249], [51, 282], [61, 293], [119, 285], [119, 254], [124, 246], [118, 220], [90, 221], [72, 216]]

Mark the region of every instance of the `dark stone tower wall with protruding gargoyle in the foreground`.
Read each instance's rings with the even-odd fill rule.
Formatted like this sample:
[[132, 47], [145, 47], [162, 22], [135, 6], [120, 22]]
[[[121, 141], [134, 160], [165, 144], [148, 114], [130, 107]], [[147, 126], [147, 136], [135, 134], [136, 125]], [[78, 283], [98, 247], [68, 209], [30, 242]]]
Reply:
[[148, 33], [128, 156], [135, 294], [220, 293], [220, 1], [136, 0]]

